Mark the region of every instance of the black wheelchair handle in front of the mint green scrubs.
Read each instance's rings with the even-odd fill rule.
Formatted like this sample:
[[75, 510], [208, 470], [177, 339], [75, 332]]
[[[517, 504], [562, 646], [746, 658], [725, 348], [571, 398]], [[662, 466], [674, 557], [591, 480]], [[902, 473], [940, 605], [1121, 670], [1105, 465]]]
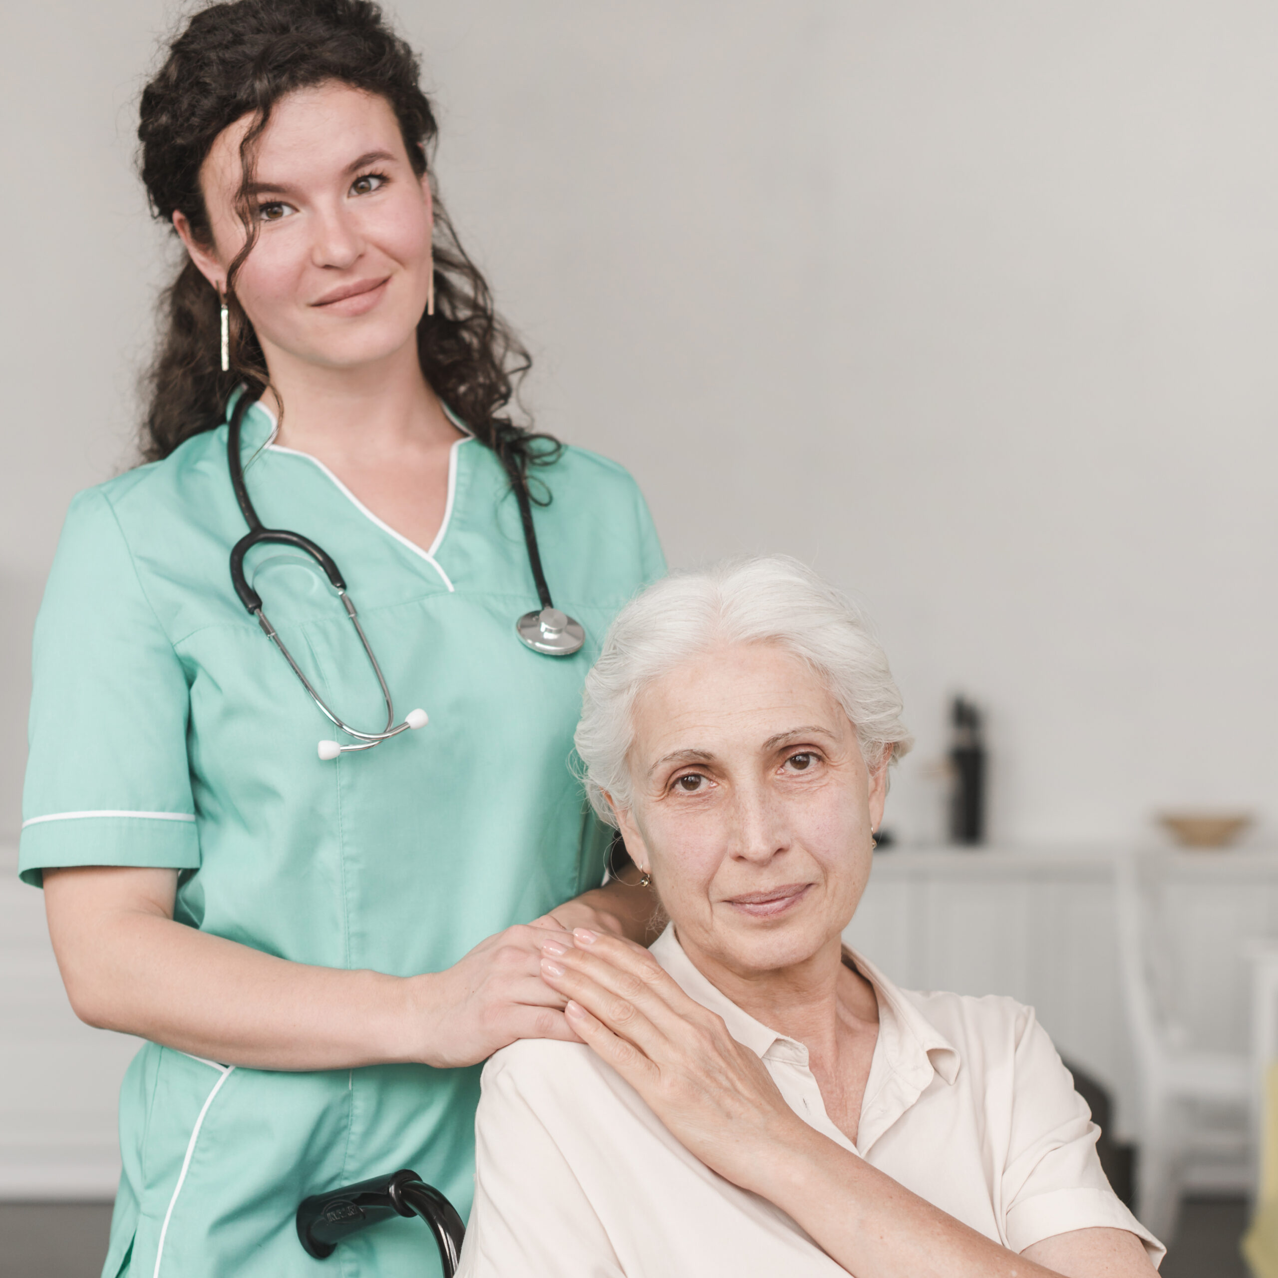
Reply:
[[437, 1189], [406, 1168], [303, 1199], [298, 1206], [298, 1238], [307, 1255], [323, 1260], [334, 1254], [343, 1238], [396, 1215], [417, 1215], [431, 1227], [443, 1278], [452, 1278], [458, 1272], [465, 1226]]

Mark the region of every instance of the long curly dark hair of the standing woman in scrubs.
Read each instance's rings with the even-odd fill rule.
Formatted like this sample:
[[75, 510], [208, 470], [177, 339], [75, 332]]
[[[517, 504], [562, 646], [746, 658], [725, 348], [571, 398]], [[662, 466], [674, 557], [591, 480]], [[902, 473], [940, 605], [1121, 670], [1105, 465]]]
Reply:
[[[395, 111], [409, 160], [427, 173], [437, 125], [418, 83], [418, 60], [372, 0], [233, 0], [196, 13], [169, 45], [160, 72], [142, 93], [138, 141], [142, 180], [152, 212], [171, 225], [181, 212], [197, 242], [211, 242], [199, 169], [213, 139], [252, 116], [240, 144], [238, 198], [248, 231], [227, 272], [231, 359], [219, 358], [219, 299], [189, 259], [161, 299], [161, 336], [147, 377], [150, 404], [142, 426], [147, 460], [219, 426], [229, 396], [247, 386], [252, 399], [268, 374], [253, 326], [238, 304], [235, 273], [256, 239], [248, 201], [253, 152], [271, 107], [295, 89], [336, 81], [383, 97]], [[433, 184], [432, 184], [433, 190]], [[557, 442], [516, 426], [506, 413], [530, 359], [497, 316], [492, 293], [435, 202], [435, 314], [417, 328], [418, 357], [432, 390], [514, 477], [551, 460]]]

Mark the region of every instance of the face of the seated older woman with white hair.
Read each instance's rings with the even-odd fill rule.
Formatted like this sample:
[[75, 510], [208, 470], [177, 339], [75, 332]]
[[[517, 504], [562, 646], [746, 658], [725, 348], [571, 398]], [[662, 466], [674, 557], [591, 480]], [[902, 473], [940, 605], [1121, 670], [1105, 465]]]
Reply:
[[810, 667], [714, 649], [649, 684], [634, 727], [621, 832], [689, 956], [745, 975], [829, 946], [869, 878], [887, 767]]

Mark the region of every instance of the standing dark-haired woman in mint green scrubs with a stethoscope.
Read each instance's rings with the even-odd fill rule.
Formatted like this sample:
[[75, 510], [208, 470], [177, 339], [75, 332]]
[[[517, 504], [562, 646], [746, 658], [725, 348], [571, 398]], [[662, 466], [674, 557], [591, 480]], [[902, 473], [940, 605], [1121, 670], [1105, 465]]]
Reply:
[[[399, 1167], [465, 1215], [479, 1063], [574, 1038], [546, 929], [640, 938], [653, 912], [599, 886], [607, 836], [569, 760], [585, 671], [661, 550], [621, 468], [505, 415], [527, 357], [433, 198], [435, 132], [363, 0], [204, 9], [142, 97], [143, 179], [185, 258], [150, 464], [75, 498], [40, 613], [20, 854], [77, 1013], [147, 1040], [107, 1278], [312, 1273], [298, 1201]], [[317, 751], [359, 739], [233, 587], [229, 447], [262, 524], [336, 561], [395, 722], [426, 726]], [[570, 656], [516, 634], [542, 602], [525, 482], [546, 584], [584, 629]], [[326, 704], [380, 732], [316, 561], [257, 546], [244, 584]], [[341, 1273], [431, 1252], [396, 1220]]]

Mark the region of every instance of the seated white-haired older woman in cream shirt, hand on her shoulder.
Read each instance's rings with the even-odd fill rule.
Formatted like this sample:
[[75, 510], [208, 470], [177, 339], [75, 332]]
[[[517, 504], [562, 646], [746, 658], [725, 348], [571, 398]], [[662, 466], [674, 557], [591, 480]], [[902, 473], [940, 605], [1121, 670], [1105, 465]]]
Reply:
[[841, 943], [900, 708], [860, 617], [792, 561], [620, 613], [576, 744], [671, 921], [651, 952], [547, 939], [583, 1044], [484, 1068], [463, 1274], [1154, 1272], [1033, 1010], [898, 989]]

